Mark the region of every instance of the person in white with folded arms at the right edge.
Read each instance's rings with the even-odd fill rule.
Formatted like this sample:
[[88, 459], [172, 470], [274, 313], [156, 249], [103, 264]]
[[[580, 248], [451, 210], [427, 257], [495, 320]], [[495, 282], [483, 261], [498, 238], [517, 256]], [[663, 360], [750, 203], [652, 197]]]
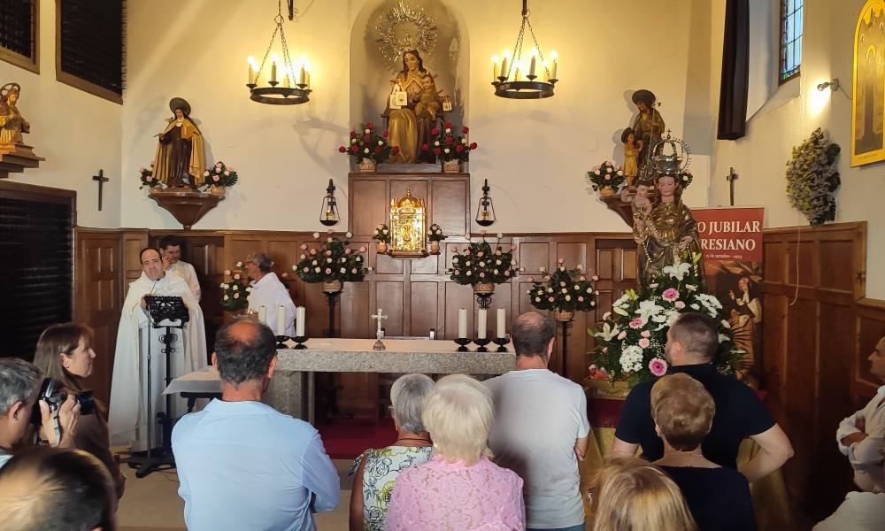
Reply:
[[[876, 343], [870, 361], [870, 373], [885, 383], [885, 337]], [[882, 471], [882, 448], [885, 448], [885, 385], [864, 409], [843, 419], [836, 431], [839, 450], [854, 468], [854, 482], [866, 491], [885, 491]]]

